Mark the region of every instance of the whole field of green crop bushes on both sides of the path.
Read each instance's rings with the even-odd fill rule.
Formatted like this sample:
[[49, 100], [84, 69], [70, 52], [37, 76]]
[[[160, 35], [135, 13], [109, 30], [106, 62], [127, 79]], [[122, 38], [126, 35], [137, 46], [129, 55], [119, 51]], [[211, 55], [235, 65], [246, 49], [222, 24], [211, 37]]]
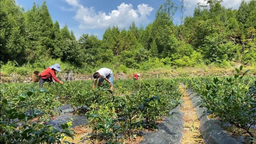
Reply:
[[92, 143], [118, 144], [155, 131], [182, 104], [180, 83], [192, 88], [203, 100], [212, 118], [239, 128], [247, 142], [255, 141], [256, 76], [236, 69], [230, 77], [180, 77], [168, 79], [114, 80], [114, 91], [105, 84], [92, 89], [92, 80], [60, 84], [1, 84], [1, 143], [69, 143], [74, 138], [72, 122], [57, 130], [45, 124], [65, 104], [86, 115], [90, 132], [81, 138]]

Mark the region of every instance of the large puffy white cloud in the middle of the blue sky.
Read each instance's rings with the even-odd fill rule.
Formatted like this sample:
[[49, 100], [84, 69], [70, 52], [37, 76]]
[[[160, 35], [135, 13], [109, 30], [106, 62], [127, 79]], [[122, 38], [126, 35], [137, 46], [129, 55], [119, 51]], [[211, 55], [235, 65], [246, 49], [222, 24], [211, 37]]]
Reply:
[[66, 2], [76, 8], [74, 19], [79, 22], [80, 29], [105, 29], [108, 26], [127, 28], [133, 21], [136, 24], [145, 24], [149, 22], [147, 16], [153, 10], [148, 4], [139, 4], [137, 9], [134, 9], [132, 4], [123, 2], [117, 6], [117, 10], [106, 14], [102, 11], [96, 12], [94, 7], [84, 7], [78, 0], [66, 0]]

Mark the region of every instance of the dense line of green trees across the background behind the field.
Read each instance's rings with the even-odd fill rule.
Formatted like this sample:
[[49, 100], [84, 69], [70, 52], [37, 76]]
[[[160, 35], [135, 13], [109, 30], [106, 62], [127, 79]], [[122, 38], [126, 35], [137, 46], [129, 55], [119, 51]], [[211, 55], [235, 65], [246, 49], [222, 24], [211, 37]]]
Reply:
[[[148, 62], [170, 66], [256, 62], [256, 0], [242, 0], [238, 10], [225, 8], [222, 0], [205, 0], [193, 16], [184, 18], [185, 4], [166, 0], [154, 22], [138, 28], [107, 28], [102, 40], [83, 34], [76, 40], [67, 25], [53, 22], [46, 2], [24, 11], [15, 0], [0, 0], [1, 61], [18, 64], [60, 58], [75, 66], [101, 63], [140, 68]], [[173, 17], [179, 10], [180, 25]]]

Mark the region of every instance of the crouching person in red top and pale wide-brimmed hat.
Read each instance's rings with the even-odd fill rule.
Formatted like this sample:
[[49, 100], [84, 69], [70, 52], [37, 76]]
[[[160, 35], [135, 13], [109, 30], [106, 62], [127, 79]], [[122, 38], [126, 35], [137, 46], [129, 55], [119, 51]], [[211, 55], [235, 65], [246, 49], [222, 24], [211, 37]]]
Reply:
[[58, 80], [58, 78], [56, 78], [56, 70], [58, 72], [61, 72], [59, 64], [54, 64], [54, 65], [46, 68], [42, 72], [40, 80], [39, 80], [39, 88], [43, 87], [44, 82], [52, 82], [53, 83], [52, 78], [56, 82], [59, 82], [60, 84], [64, 84], [62, 81], [60, 81], [60, 80]]

